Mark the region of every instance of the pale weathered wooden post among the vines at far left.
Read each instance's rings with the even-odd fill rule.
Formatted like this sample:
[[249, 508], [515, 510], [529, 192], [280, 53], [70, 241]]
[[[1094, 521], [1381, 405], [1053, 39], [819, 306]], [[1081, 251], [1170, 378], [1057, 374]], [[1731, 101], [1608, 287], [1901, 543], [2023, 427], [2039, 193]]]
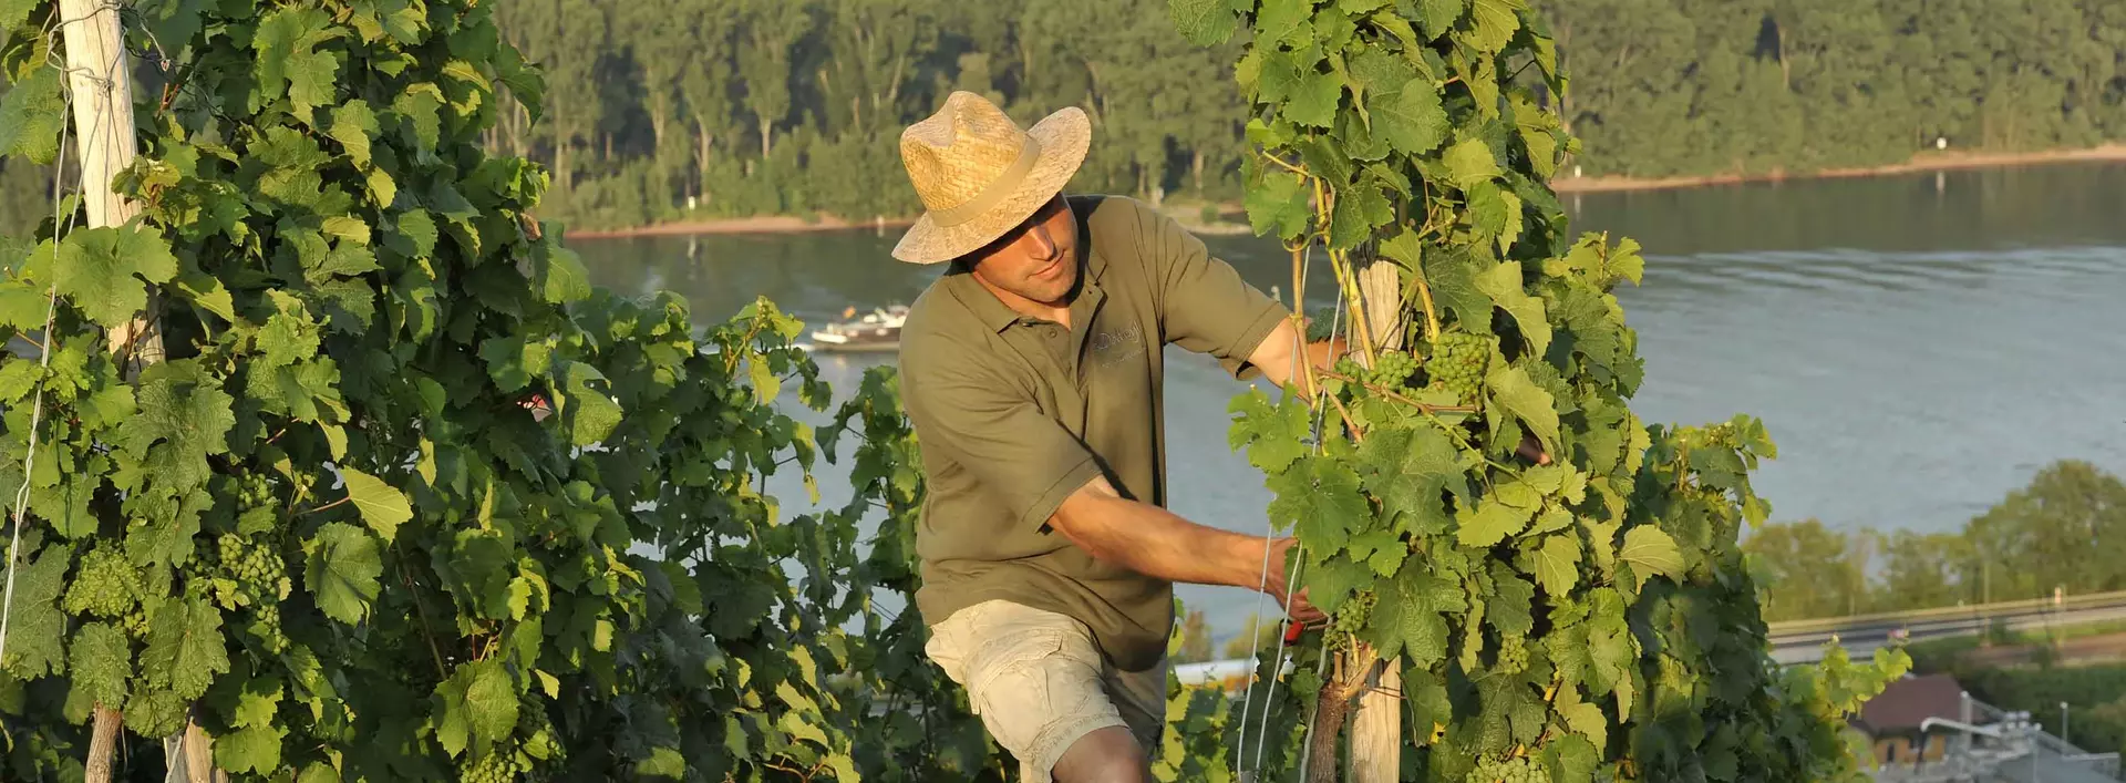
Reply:
[[[60, 34], [66, 43], [66, 79], [72, 94], [74, 153], [81, 162], [81, 202], [89, 213], [89, 228], [123, 226], [140, 215], [134, 204], [111, 189], [111, 177], [134, 162], [134, 106], [132, 106], [132, 57], [125, 53], [125, 30], [119, 23], [119, 4], [108, 0], [60, 0]], [[62, 162], [64, 166], [64, 162]], [[151, 328], [149, 313], [155, 311], [149, 298], [147, 313], [136, 313], [121, 328], [111, 330], [113, 355], [138, 351], [142, 364], [162, 362], [162, 334]], [[96, 704], [96, 730], [89, 736], [85, 760], [87, 783], [111, 781], [111, 760], [123, 717], [119, 711]], [[210, 760], [202, 753], [206, 732], [187, 721], [185, 760]], [[185, 768], [189, 783], [210, 783], [213, 764], [185, 764], [172, 757], [172, 768]]]

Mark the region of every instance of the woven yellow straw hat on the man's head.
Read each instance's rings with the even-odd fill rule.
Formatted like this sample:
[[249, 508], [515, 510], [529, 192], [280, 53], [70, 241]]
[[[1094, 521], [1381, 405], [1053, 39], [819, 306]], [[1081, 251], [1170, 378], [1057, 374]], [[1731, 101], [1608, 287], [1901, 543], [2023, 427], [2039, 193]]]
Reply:
[[1091, 143], [1093, 121], [1078, 106], [1018, 130], [997, 104], [955, 91], [901, 132], [901, 166], [925, 213], [893, 257], [950, 262], [1003, 236], [1063, 189]]

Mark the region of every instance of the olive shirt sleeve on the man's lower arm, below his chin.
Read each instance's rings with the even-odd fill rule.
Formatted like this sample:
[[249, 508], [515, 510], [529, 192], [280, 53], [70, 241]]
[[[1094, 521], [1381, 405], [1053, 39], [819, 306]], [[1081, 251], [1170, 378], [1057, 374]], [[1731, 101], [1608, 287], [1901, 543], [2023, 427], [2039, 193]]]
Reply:
[[[946, 353], [935, 353], [935, 351]], [[904, 353], [901, 400], [925, 460], [944, 457], [1010, 509], [1042, 526], [1101, 474], [1093, 451], [995, 372], [959, 362], [961, 349]]]

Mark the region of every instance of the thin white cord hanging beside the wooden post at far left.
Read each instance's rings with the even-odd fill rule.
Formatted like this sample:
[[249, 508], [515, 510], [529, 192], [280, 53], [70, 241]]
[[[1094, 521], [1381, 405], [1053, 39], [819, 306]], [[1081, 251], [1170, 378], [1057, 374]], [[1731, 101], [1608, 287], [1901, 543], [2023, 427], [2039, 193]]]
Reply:
[[[53, 43], [53, 38], [60, 34], [60, 28], [64, 28], [68, 23], [87, 21], [89, 17], [94, 17], [98, 13], [104, 13], [104, 11], [119, 13], [121, 6], [117, 2], [106, 2], [106, 4], [98, 6], [94, 13], [89, 13], [87, 17], [81, 17], [81, 19], [60, 19], [51, 28], [47, 28], [45, 30], [45, 40], [47, 40], [47, 45], [45, 45], [45, 57], [47, 57], [47, 62], [45, 64], [49, 68], [57, 68], [62, 77], [72, 77], [72, 68], [66, 68], [64, 64], [53, 64], [51, 62], [51, 57], [55, 57], [55, 53], [60, 51], [60, 47]], [[123, 57], [123, 55], [125, 55], [125, 47], [121, 45], [119, 51], [113, 53], [113, 57]], [[117, 72], [117, 66], [119, 66], [119, 60], [113, 60], [111, 64], [104, 66], [104, 72], [106, 74]], [[51, 166], [51, 219], [53, 219], [51, 245], [53, 247], [57, 247], [66, 238], [66, 234], [72, 230], [72, 226], [74, 226], [74, 213], [62, 213], [62, 206], [66, 204], [66, 138], [68, 138], [68, 132], [72, 130], [72, 113], [74, 113], [72, 79], [60, 79], [60, 117], [62, 117], [62, 121], [60, 121], [60, 147], [57, 147], [60, 151], [53, 157], [53, 166]], [[96, 117], [89, 121], [89, 130], [87, 130], [85, 138], [102, 138], [104, 117], [108, 113], [111, 113], [111, 106], [104, 104], [104, 102], [98, 102]], [[104, 143], [108, 145], [111, 140], [104, 138]], [[74, 191], [79, 194], [85, 187], [87, 187], [87, 166], [81, 166], [81, 172], [77, 174], [77, 181], [74, 181]], [[53, 274], [51, 287], [45, 291], [45, 334], [40, 334], [40, 345], [38, 345], [38, 357], [36, 357], [38, 370], [49, 370], [51, 368], [51, 328], [53, 328], [53, 321], [57, 319], [57, 313], [60, 313], [60, 281], [57, 281], [57, 274]], [[0, 664], [6, 662], [9, 623], [15, 619], [15, 570], [17, 570], [19, 560], [21, 560], [19, 557], [21, 555], [21, 517], [28, 515], [28, 511], [30, 511], [30, 481], [34, 481], [32, 472], [36, 468], [36, 440], [38, 440], [38, 432], [43, 430], [43, 423], [45, 423], [45, 379], [38, 377], [38, 381], [36, 381], [36, 402], [32, 402], [32, 406], [30, 406], [28, 453], [23, 453], [23, 457], [21, 457], [21, 487], [15, 489], [15, 513], [11, 515], [11, 521], [9, 521], [6, 592], [4, 592], [4, 598], [0, 598]]]

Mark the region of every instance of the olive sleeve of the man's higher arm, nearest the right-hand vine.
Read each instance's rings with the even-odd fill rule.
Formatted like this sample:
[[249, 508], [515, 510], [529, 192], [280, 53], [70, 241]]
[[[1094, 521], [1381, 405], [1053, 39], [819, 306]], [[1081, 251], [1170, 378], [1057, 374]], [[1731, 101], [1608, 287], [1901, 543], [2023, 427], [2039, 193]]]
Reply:
[[1159, 326], [1167, 343], [1210, 353], [1235, 377], [1256, 370], [1248, 355], [1290, 317], [1290, 311], [1210, 255], [1201, 238], [1180, 221], [1142, 209], [1144, 257], [1159, 287]]

